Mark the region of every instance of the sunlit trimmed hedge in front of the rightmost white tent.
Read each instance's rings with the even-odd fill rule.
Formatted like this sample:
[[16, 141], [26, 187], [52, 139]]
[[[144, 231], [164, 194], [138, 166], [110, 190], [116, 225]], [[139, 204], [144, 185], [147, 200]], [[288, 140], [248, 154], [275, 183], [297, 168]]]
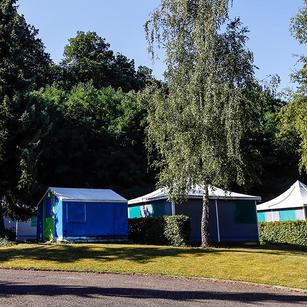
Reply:
[[307, 221], [260, 222], [260, 244], [307, 246]]

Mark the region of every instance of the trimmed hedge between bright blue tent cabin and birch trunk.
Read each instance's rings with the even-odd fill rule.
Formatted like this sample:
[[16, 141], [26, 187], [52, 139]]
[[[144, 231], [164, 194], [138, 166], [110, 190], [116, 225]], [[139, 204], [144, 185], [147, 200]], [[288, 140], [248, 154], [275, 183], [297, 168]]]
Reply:
[[129, 218], [129, 239], [135, 243], [186, 246], [190, 218], [186, 215]]

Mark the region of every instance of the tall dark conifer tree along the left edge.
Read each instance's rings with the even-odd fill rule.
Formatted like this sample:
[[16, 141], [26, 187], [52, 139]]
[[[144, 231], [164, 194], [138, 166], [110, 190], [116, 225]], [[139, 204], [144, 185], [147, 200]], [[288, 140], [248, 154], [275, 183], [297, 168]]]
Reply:
[[23, 219], [34, 208], [39, 142], [49, 130], [45, 106], [29, 91], [52, 79], [52, 61], [15, 3], [0, 3], [0, 232], [3, 213]]

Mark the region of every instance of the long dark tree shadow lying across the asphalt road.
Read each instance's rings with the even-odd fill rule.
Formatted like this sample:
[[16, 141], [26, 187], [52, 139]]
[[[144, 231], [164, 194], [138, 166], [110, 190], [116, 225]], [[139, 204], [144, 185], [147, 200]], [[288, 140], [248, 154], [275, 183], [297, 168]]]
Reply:
[[[128, 280], [129, 281], [129, 280]], [[166, 282], [166, 287], [169, 281]], [[225, 286], [224, 286], [225, 287]], [[223, 288], [224, 288], [223, 287]], [[307, 295], [303, 294], [287, 294], [283, 292], [261, 292], [261, 291], [244, 291], [244, 292], [228, 292], [228, 291], [173, 291], [173, 290], [157, 290], [148, 288], [111, 288], [111, 287], [82, 287], [67, 286], [56, 284], [31, 284], [0, 282], [0, 299], [1, 297], [11, 297], [18, 295], [35, 295], [43, 297], [57, 297], [61, 295], [69, 295], [83, 298], [99, 298], [121, 297], [136, 299], [166, 299], [174, 301], [206, 301], [221, 300], [230, 302], [244, 303], [306, 303]]]

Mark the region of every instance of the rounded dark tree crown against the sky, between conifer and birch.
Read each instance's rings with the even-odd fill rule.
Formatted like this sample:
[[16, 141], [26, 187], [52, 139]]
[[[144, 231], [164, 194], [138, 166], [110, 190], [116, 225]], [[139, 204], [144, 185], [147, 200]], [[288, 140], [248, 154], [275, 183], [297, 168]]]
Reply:
[[135, 70], [134, 60], [121, 53], [114, 54], [110, 45], [96, 32], [78, 31], [65, 46], [60, 66], [62, 86], [93, 82], [96, 89], [112, 86], [124, 92], [138, 91], [152, 78], [148, 68], [140, 66]]

